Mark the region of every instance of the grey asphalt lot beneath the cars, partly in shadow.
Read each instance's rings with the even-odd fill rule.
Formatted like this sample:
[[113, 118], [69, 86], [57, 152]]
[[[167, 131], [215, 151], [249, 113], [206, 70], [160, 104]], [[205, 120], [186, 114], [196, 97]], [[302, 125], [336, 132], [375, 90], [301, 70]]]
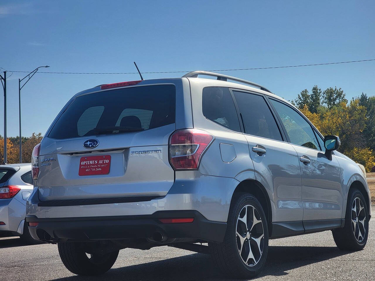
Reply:
[[[375, 218], [375, 212], [372, 212]], [[375, 219], [364, 250], [340, 251], [330, 231], [270, 241], [267, 263], [254, 280], [375, 280]], [[229, 280], [210, 256], [172, 247], [124, 249], [100, 277], [80, 277], [62, 264], [57, 245], [27, 246], [0, 238], [0, 280]]]

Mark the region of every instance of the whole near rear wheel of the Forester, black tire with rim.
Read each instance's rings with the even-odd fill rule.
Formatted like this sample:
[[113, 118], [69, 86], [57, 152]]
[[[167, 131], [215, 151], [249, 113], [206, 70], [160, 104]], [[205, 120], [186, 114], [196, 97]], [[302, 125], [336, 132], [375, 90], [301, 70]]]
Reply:
[[268, 252], [268, 226], [259, 201], [245, 193], [229, 209], [224, 241], [209, 243], [211, 257], [216, 266], [228, 277], [252, 278], [266, 263]]

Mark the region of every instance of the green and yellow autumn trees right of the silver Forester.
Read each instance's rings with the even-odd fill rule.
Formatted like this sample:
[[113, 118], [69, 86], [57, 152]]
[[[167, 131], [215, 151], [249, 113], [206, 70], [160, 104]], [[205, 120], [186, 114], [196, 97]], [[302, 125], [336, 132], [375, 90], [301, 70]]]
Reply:
[[325, 135], [340, 137], [339, 151], [365, 166], [375, 166], [375, 96], [362, 93], [350, 101], [341, 88], [322, 91], [317, 85], [290, 101]]

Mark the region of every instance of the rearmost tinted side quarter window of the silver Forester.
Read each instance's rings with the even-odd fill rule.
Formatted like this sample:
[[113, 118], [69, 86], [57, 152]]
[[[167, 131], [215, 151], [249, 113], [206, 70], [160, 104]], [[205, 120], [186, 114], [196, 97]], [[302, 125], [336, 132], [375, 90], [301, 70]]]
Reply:
[[202, 93], [202, 111], [207, 119], [233, 131], [241, 131], [236, 107], [228, 88], [204, 88]]

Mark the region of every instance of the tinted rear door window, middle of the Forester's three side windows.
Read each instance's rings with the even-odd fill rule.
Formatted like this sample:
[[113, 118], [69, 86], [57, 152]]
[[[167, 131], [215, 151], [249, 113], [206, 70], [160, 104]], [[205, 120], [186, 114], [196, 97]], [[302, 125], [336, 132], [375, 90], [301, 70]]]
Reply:
[[276, 124], [264, 97], [255, 94], [233, 92], [245, 123], [245, 133], [282, 141]]

